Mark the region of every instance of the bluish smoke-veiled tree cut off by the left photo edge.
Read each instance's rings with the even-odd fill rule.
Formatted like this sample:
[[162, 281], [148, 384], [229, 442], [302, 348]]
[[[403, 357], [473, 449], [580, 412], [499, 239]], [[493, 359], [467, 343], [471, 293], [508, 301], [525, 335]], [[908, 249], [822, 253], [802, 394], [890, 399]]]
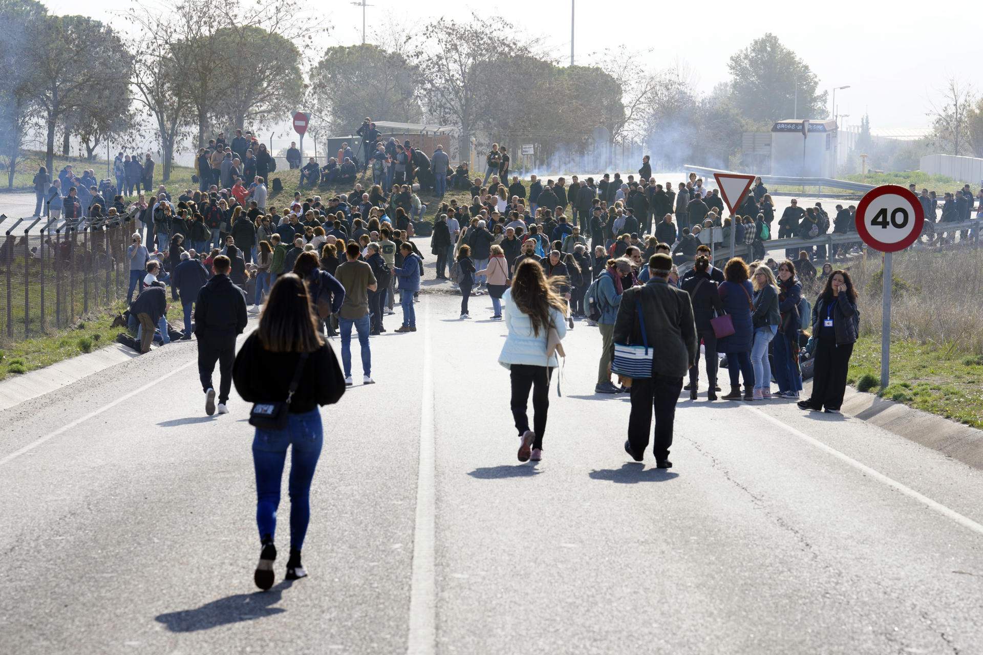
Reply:
[[32, 93], [38, 82], [23, 64], [24, 53], [46, 13], [34, 0], [0, 0], [0, 155], [6, 158], [8, 189], [14, 188], [21, 148], [38, 109]]

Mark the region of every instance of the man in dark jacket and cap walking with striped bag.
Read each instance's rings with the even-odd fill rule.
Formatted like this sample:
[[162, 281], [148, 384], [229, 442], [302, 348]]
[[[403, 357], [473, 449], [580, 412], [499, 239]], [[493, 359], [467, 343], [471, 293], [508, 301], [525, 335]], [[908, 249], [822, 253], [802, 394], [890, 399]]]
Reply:
[[655, 409], [653, 451], [658, 468], [672, 466], [668, 456], [675, 404], [682, 391], [683, 375], [696, 362], [700, 347], [689, 294], [668, 284], [671, 268], [671, 257], [654, 254], [649, 259], [648, 284], [625, 290], [614, 322], [611, 348], [611, 368], [615, 373], [620, 363], [618, 347], [623, 344], [645, 344], [642, 356], [652, 357], [650, 376], [631, 379], [631, 415], [624, 450], [635, 462], [644, 459]]

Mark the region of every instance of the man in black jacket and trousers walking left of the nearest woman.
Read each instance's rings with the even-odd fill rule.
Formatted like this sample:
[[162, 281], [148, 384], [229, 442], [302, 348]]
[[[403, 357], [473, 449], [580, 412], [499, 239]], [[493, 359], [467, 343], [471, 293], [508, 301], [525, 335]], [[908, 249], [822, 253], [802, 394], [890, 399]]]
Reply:
[[205, 395], [204, 411], [215, 413], [215, 389], [211, 374], [218, 362], [221, 380], [218, 389], [218, 413], [228, 413], [226, 404], [232, 388], [232, 362], [236, 357], [236, 336], [248, 322], [246, 293], [232, 284], [232, 262], [224, 254], [211, 262], [214, 273], [198, 294], [195, 306], [195, 336], [198, 337], [198, 372]]

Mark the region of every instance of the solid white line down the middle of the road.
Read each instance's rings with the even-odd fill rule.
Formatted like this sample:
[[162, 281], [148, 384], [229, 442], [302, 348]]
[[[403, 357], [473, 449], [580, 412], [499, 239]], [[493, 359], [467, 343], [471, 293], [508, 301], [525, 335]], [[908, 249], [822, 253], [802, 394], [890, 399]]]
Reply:
[[424, 383], [420, 408], [420, 472], [417, 519], [413, 532], [413, 578], [410, 582], [408, 655], [432, 655], [436, 648], [434, 580], [434, 371], [431, 365], [431, 303], [423, 299]]

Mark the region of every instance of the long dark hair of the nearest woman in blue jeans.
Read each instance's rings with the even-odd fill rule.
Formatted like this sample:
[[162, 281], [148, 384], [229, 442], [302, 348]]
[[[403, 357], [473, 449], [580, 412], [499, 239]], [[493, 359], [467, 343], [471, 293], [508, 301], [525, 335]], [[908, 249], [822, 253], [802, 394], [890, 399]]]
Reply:
[[287, 273], [276, 278], [257, 332], [270, 353], [313, 353], [324, 345], [300, 277]]

